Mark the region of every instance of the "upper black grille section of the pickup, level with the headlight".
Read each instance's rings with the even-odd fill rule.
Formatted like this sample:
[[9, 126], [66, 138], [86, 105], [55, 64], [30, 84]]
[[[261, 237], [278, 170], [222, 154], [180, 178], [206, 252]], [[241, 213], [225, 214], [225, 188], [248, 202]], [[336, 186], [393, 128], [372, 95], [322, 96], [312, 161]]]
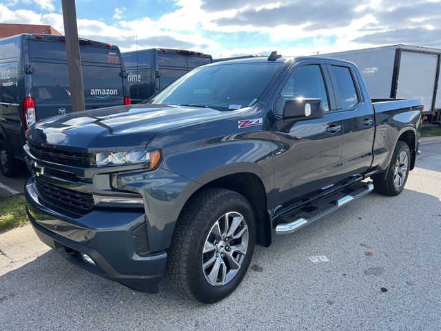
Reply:
[[61, 163], [65, 165], [83, 166], [86, 167], [90, 164], [89, 154], [83, 152], [72, 152], [52, 147], [37, 146], [33, 143], [28, 143], [29, 149], [34, 157], [41, 159], [42, 161], [48, 161], [53, 163]]

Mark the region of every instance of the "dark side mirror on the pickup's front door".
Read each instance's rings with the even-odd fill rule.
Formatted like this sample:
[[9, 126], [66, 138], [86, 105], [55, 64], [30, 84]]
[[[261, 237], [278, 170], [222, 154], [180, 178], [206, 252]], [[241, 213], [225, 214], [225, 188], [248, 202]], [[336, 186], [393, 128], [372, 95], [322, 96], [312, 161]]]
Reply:
[[285, 121], [303, 121], [305, 119], [320, 119], [325, 117], [322, 99], [298, 98], [287, 100], [283, 108]]

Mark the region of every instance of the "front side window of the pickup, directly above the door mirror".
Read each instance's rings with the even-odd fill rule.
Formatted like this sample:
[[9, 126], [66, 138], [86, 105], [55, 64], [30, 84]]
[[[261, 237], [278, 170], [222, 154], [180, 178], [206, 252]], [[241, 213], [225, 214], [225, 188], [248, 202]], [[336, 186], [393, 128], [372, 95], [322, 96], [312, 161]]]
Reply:
[[277, 99], [276, 114], [283, 115], [286, 101], [297, 98], [321, 99], [325, 111], [329, 110], [325, 81], [317, 64], [300, 67], [291, 74]]

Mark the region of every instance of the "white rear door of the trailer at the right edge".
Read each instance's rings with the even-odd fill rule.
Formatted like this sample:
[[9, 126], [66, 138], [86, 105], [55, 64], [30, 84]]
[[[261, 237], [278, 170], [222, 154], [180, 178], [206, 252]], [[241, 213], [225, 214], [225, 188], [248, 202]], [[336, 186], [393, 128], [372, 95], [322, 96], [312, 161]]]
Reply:
[[401, 53], [397, 99], [419, 99], [424, 112], [432, 111], [438, 55], [417, 52]]

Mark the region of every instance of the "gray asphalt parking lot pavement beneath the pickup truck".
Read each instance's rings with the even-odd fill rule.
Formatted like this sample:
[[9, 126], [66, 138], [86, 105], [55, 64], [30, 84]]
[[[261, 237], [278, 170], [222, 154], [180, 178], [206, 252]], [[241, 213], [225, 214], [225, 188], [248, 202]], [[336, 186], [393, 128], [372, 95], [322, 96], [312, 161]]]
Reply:
[[42, 244], [26, 253], [34, 234], [12, 230], [28, 244], [0, 263], [0, 330], [440, 330], [441, 139], [421, 150], [400, 196], [371, 193], [257, 248], [214, 305], [176, 297], [166, 280], [134, 292]]

